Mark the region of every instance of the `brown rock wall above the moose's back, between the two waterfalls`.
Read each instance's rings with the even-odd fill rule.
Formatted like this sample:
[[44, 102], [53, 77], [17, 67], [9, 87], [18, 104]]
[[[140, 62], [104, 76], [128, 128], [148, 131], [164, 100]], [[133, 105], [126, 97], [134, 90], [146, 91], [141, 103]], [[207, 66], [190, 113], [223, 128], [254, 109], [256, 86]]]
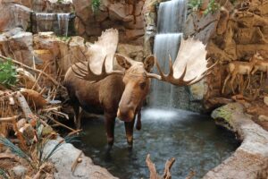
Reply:
[[94, 13], [91, 0], [73, 0], [77, 15], [78, 35], [94, 41], [101, 32], [115, 28], [120, 32], [120, 42], [142, 45], [144, 18], [141, 13], [144, 0], [103, 0]]

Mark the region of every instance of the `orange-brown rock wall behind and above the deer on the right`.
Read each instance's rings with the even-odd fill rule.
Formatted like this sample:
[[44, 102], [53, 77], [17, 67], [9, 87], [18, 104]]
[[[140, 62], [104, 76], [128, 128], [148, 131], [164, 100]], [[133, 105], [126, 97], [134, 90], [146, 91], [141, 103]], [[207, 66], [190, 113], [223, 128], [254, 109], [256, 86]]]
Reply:
[[[207, 57], [210, 57], [211, 64], [218, 62], [205, 79], [205, 83], [208, 84], [204, 96], [206, 109], [221, 106], [227, 102], [225, 98], [234, 95], [230, 90], [230, 81], [227, 81], [227, 88], [222, 93], [230, 62], [248, 63], [256, 52], [264, 57], [264, 62], [268, 61], [267, 1], [254, 0], [247, 3], [238, 1], [234, 4], [229, 1], [219, 1], [219, 4], [222, 7], [214, 14], [191, 13], [184, 29], [185, 37], [195, 35], [207, 43]], [[245, 83], [247, 75], [238, 76]], [[233, 84], [235, 94], [251, 93], [246, 87], [239, 91], [241, 84], [239, 78], [236, 77]], [[264, 90], [258, 79], [260, 79], [260, 73], [257, 72], [251, 77], [249, 89]]]

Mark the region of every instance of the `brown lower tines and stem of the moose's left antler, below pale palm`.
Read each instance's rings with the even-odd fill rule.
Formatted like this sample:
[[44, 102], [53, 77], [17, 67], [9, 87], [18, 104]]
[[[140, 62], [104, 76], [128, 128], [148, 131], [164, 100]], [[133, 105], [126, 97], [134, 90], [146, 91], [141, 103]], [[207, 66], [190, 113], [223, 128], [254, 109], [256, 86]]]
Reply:
[[[120, 75], [124, 74], [123, 71], [106, 72], [105, 61], [106, 61], [106, 56], [105, 56], [105, 60], [104, 60], [104, 63], [102, 65], [102, 71], [100, 74], [96, 74], [96, 73], [92, 72], [92, 70], [90, 69], [89, 60], [88, 60], [88, 64], [86, 64], [83, 61], [80, 61], [80, 64], [84, 65], [84, 67], [87, 67], [88, 71], [85, 70], [83, 67], [81, 67], [80, 64], [72, 65], [71, 70], [72, 70], [72, 72], [74, 72], [76, 74], [76, 76], [78, 78], [80, 78], [82, 80], [86, 80], [86, 81], [91, 81], [91, 82], [101, 81], [101, 80], [105, 79], [106, 76], [109, 76], [111, 74], [120, 74]], [[78, 71], [75, 70], [74, 66], [76, 67], [76, 69]]]

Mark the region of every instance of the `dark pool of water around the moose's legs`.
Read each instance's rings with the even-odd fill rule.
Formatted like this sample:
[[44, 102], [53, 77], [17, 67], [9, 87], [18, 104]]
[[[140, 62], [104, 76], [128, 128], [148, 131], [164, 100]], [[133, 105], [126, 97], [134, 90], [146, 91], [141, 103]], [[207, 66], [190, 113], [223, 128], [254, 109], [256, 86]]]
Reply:
[[172, 178], [185, 178], [191, 169], [197, 172], [195, 178], [201, 178], [239, 147], [234, 135], [217, 127], [209, 116], [183, 110], [144, 109], [142, 130], [135, 130], [131, 151], [127, 148], [124, 124], [119, 120], [110, 152], [106, 150], [103, 116], [83, 119], [83, 130], [78, 147], [96, 165], [122, 179], [148, 178], [147, 154], [160, 174], [166, 160], [176, 158]]

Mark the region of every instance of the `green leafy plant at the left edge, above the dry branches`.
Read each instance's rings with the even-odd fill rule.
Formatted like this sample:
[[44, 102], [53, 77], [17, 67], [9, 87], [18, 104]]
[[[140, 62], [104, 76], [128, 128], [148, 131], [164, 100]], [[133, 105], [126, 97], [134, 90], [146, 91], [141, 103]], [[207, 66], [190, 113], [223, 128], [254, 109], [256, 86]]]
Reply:
[[16, 67], [13, 62], [11, 60], [1, 62], [0, 59], [0, 84], [5, 87], [13, 86], [17, 81], [16, 75]]

